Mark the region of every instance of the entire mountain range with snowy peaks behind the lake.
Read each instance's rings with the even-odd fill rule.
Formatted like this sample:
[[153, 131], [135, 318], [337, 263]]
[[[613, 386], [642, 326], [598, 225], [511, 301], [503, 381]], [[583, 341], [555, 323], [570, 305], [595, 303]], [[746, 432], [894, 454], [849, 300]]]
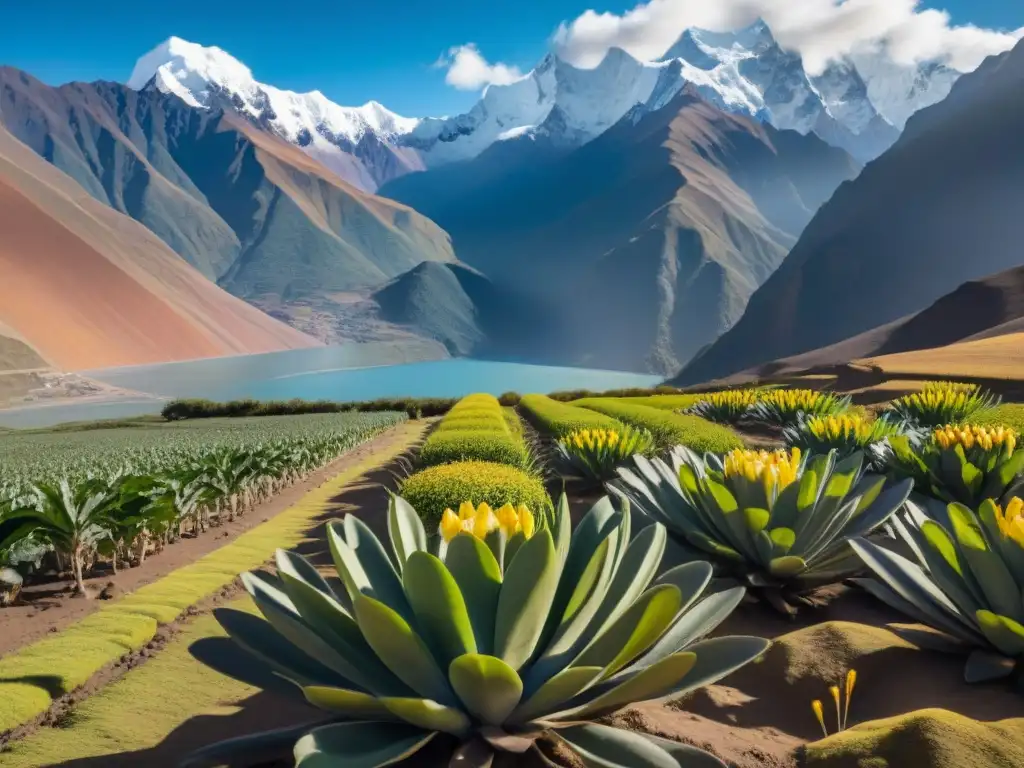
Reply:
[[[31, 282], [37, 304], [75, 312], [0, 312], [0, 350], [86, 369], [385, 341], [438, 355], [685, 367], [688, 382], [728, 375], [894, 323], [1019, 263], [986, 243], [978, 263], [932, 270], [901, 241], [928, 216], [983, 218], [987, 165], [974, 172], [952, 147], [977, 142], [997, 162], [1016, 126], [985, 133], [969, 116], [1013, 112], [1008, 73], [1019, 68], [1000, 63], [1013, 59], [962, 78], [879, 51], [812, 73], [758, 22], [687, 30], [651, 61], [612, 48], [582, 69], [551, 53], [466, 114], [426, 118], [282, 90], [179, 38], [139, 58], [125, 84], [49, 86], [0, 68], [10, 147], [0, 181], [16, 179], [8, 194], [20, 196], [9, 215], [47, 230], [19, 224], [11, 286]], [[1004, 166], [994, 177], [1011, 183], [1016, 164]], [[977, 188], [953, 211], [942, 189], [957, 174]], [[27, 196], [44, 177], [59, 194]], [[985, 193], [990, 209], [996, 193]], [[74, 226], [80, 211], [116, 233], [89, 240]], [[882, 214], [899, 220], [883, 225]], [[78, 251], [48, 221], [98, 258], [61, 268]], [[981, 226], [967, 228], [984, 243]], [[965, 247], [936, 238], [945, 242], [924, 242]], [[126, 305], [130, 333], [100, 321], [102, 292], [122, 279], [103, 271], [112, 263], [157, 297]], [[895, 279], [879, 286], [859, 266]], [[82, 319], [91, 299], [71, 298], [66, 278], [95, 284], [95, 322]], [[882, 306], [854, 306], [851, 286], [872, 287]], [[160, 319], [168, 303], [198, 335]], [[61, 347], [68, 323], [95, 338]]]

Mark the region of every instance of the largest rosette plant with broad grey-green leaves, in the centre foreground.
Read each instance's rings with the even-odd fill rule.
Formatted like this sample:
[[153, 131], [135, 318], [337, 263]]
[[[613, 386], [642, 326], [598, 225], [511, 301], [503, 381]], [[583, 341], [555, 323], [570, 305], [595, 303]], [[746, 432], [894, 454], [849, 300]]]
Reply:
[[587, 765], [724, 768], [696, 748], [595, 721], [682, 695], [762, 654], [769, 641], [760, 638], [701, 639], [743, 589], [702, 596], [712, 580], [705, 562], [655, 579], [664, 528], [631, 541], [628, 509], [607, 498], [574, 531], [564, 498], [551, 527], [527, 536], [519, 525], [523, 541], [504, 568], [474, 536], [485, 539], [489, 523], [455, 531], [439, 558], [427, 551], [420, 516], [394, 498], [390, 552], [357, 517], [329, 526], [341, 588], [284, 551], [276, 577], [244, 574], [263, 617], [216, 615], [251, 664], [217, 652], [215, 641], [193, 652], [247, 682], [290, 681], [325, 719], [215, 744], [184, 764], [266, 760], [285, 748], [304, 768], [373, 768], [426, 748], [437, 765], [489, 766], [498, 753], [518, 765], [552, 737]]

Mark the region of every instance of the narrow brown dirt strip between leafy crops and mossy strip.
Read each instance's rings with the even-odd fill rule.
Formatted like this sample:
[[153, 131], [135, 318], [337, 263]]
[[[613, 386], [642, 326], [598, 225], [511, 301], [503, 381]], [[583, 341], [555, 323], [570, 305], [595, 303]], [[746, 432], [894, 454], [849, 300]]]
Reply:
[[[86, 581], [90, 592], [98, 595], [109, 584], [117, 595], [124, 595], [167, 575], [173, 570], [198, 560], [214, 550], [229, 544], [245, 531], [284, 512], [310, 489], [322, 485], [346, 468], [364, 461], [367, 456], [380, 451], [395, 439], [394, 432], [386, 432], [359, 445], [337, 461], [317, 470], [305, 480], [296, 483], [272, 499], [247, 512], [234, 522], [225, 522], [211, 528], [196, 539], [182, 539], [160, 554], [146, 557], [140, 567], [125, 568], [114, 574], [108, 570]], [[71, 596], [74, 582], [51, 581], [26, 587], [19, 601], [3, 609], [3, 629], [0, 633], [0, 655], [9, 653], [29, 643], [58, 632], [65, 627], [88, 615], [102, 603], [96, 600]]]

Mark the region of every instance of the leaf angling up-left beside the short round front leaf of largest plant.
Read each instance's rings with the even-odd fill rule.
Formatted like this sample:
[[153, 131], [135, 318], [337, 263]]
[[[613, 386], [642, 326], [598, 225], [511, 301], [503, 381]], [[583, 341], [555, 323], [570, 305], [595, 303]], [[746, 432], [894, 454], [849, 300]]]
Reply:
[[406, 685], [424, 698], [455, 702], [430, 649], [397, 611], [366, 595], [355, 598], [354, 608], [370, 647]]

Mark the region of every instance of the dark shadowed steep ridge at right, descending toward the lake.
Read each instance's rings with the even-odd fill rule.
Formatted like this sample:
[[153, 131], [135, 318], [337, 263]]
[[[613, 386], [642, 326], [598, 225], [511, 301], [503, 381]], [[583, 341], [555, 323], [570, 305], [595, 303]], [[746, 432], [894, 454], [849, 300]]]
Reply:
[[962, 78], [818, 212], [691, 384], [843, 341], [1021, 264], [1024, 44]]

